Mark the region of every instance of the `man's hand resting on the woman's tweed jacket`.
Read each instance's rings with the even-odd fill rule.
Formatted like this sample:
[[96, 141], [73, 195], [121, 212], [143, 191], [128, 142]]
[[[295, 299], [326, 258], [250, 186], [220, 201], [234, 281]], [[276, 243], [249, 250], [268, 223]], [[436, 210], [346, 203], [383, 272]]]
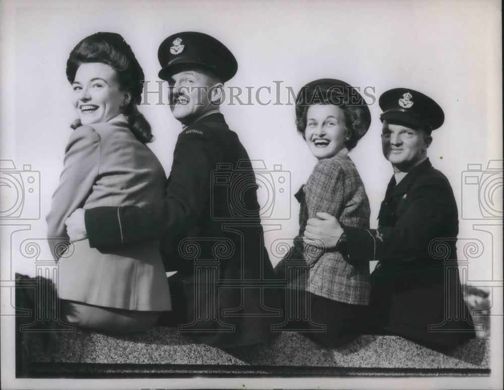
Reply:
[[319, 247], [322, 241], [325, 249], [334, 249], [342, 234], [343, 228], [335, 217], [328, 213], [317, 213], [317, 218], [310, 218], [306, 222], [303, 241]]

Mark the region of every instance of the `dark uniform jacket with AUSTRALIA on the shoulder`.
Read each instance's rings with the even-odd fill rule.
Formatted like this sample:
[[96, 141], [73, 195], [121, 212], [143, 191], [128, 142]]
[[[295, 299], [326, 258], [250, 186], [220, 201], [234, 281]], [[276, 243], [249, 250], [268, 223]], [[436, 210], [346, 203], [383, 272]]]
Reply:
[[[196, 330], [200, 324], [202, 329], [213, 328], [198, 337], [215, 346], [258, 343], [271, 338], [271, 324], [279, 321], [267, 309], [279, 307], [279, 292], [275, 288], [231, 287], [241, 280], [265, 285], [274, 278], [264, 247], [256, 189], [254, 171], [237, 135], [222, 114], [212, 113], [180, 133], [165, 198], [141, 208], [87, 210], [89, 241], [94, 247], [106, 247], [161, 237], [166, 270], [177, 270], [184, 276], [190, 321], [198, 300], [195, 267], [205, 260], [217, 262], [218, 317], [234, 331], [225, 331], [229, 327], [216, 321], [200, 321]], [[196, 245], [186, 246], [188, 242]]]

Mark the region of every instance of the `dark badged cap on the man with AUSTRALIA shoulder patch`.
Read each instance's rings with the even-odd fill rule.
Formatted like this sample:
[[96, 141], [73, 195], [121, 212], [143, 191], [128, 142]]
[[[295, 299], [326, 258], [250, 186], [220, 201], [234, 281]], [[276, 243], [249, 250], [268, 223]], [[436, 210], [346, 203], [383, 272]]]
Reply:
[[210, 35], [186, 31], [170, 35], [159, 46], [161, 64], [159, 78], [168, 80], [178, 72], [192, 68], [208, 69], [226, 82], [238, 69], [236, 58], [229, 49]]

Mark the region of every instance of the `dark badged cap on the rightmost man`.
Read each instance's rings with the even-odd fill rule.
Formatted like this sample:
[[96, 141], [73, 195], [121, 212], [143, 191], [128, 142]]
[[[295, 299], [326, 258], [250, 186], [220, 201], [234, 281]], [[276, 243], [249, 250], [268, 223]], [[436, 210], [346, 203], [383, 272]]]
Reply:
[[382, 122], [398, 121], [432, 131], [445, 121], [443, 109], [434, 100], [412, 89], [391, 89], [380, 96], [378, 103], [383, 110]]

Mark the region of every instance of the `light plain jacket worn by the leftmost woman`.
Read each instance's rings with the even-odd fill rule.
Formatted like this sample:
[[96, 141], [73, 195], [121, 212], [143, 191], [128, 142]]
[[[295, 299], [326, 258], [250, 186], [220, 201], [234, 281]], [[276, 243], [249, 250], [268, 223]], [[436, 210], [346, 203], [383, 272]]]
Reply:
[[[119, 115], [80, 126], [65, 150], [64, 169], [47, 215], [53, 256], [68, 240], [65, 219], [78, 208], [138, 205], [163, 198], [166, 176], [151, 150]], [[129, 310], [168, 310], [170, 296], [159, 242], [91, 248], [77, 241], [59, 259], [60, 298]]]

